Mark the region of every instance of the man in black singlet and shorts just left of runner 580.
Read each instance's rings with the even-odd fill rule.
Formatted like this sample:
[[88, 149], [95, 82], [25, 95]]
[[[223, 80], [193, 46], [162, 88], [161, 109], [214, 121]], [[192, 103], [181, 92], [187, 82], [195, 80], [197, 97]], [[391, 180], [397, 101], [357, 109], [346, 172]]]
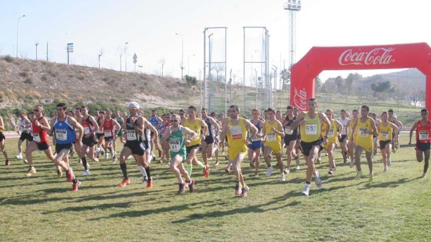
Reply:
[[285, 131], [285, 145], [287, 147], [286, 150], [286, 155], [287, 155], [287, 167], [284, 170], [284, 172], [286, 174], [290, 173], [290, 163], [292, 162], [292, 158], [296, 158], [296, 170], [299, 170], [299, 154], [296, 154], [298, 156], [295, 155], [295, 146], [296, 146], [296, 141], [298, 139], [298, 128], [296, 129], [290, 129], [290, 125], [295, 122], [296, 120], [296, 116], [293, 115], [293, 107], [292, 106], [287, 106], [287, 112], [286, 112], [286, 118], [283, 122], [283, 128]]

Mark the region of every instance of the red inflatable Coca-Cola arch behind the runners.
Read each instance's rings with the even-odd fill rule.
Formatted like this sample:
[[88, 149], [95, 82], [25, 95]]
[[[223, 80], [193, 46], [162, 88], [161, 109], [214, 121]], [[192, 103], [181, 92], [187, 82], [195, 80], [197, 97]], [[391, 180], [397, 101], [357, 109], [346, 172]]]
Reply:
[[431, 48], [426, 43], [312, 47], [292, 66], [290, 104], [307, 110], [307, 100], [314, 96], [314, 78], [323, 70], [391, 68], [417, 68], [426, 75], [425, 107], [430, 109]]

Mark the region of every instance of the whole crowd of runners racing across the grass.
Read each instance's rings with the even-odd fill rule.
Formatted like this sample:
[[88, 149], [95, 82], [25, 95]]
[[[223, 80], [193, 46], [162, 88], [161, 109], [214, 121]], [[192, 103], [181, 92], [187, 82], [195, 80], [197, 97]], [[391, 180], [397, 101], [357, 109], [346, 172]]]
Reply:
[[[356, 167], [356, 179], [363, 175], [361, 169], [361, 154], [365, 157], [369, 170], [369, 181], [374, 181], [373, 156], [380, 148], [383, 160], [383, 173], [391, 165], [391, 150], [396, 152], [399, 146], [398, 136], [403, 124], [393, 114], [393, 110], [381, 114], [369, 113], [369, 107], [363, 105], [360, 110], [340, 111], [340, 117], [335, 119], [333, 110], [318, 111], [318, 103], [314, 98], [307, 102], [308, 111], [299, 112], [292, 106], [287, 106], [285, 114], [282, 111], [268, 108], [262, 113], [252, 110], [252, 118], [241, 117], [241, 111], [236, 105], [228, 110], [228, 117], [224, 114], [208, 110], [197, 110], [190, 106], [179, 113], [167, 113], [159, 117], [156, 110], [151, 110], [147, 119], [140, 110], [139, 104], [132, 102], [128, 105], [129, 112], [121, 113], [116, 110], [96, 110], [95, 115], [88, 113], [85, 106], [67, 110], [64, 103], [57, 105], [55, 116], [48, 119], [43, 115], [43, 106], [37, 105], [33, 115], [25, 116], [20, 113], [19, 130], [21, 136], [18, 141], [16, 158], [28, 163], [25, 176], [33, 176], [36, 168], [33, 163], [32, 152], [44, 152], [57, 169], [58, 178], [66, 172], [67, 181], [72, 182], [72, 191], [77, 191], [81, 182], [74, 175], [69, 158], [73, 149], [78, 155], [79, 164], [83, 166], [81, 176], [89, 176], [89, 160], [99, 162], [99, 155], [105, 159], [118, 161], [116, 139], [120, 139], [123, 147], [120, 151], [120, 169], [123, 179], [119, 186], [124, 187], [131, 182], [127, 172], [126, 160], [133, 157], [142, 174], [142, 184], [147, 188], [153, 186], [150, 162], [156, 158], [154, 151], [158, 151], [161, 162], [167, 166], [178, 180], [179, 193], [189, 188], [194, 192], [195, 180], [192, 170], [197, 169], [204, 177], [210, 175], [209, 160], [215, 156], [214, 166], [219, 164], [219, 154], [224, 153], [226, 146], [227, 167], [225, 171], [233, 171], [235, 176], [235, 195], [246, 197], [249, 186], [244, 181], [241, 162], [248, 154], [250, 166], [254, 168], [254, 176], [259, 176], [260, 154], [266, 164], [266, 176], [273, 171], [280, 170], [281, 181], [286, 181], [290, 174], [292, 161], [296, 170], [300, 170], [300, 157], [305, 159], [306, 179], [302, 193], [310, 193], [311, 180], [318, 188], [322, 186], [316, 163], [320, 162], [320, 153], [326, 150], [329, 160], [328, 174], [336, 171], [334, 158], [335, 148], [339, 145], [343, 163], [350, 158], [350, 167]], [[0, 117], [0, 150], [6, 158], [6, 165], [10, 159], [5, 151], [4, 123]], [[431, 122], [428, 121], [428, 110], [421, 110], [421, 119], [410, 130], [410, 142], [416, 131], [416, 157], [420, 162], [425, 160], [423, 177], [429, 165], [431, 144]], [[48, 136], [52, 136], [55, 145], [54, 152], [49, 145]], [[26, 141], [25, 159], [22, 143]], [[287, 162], [284, 165], [283, 154], [286, 148]], [[202, 161], [196, 154], [202, 154]], [[109, 157], [111, 156], [111, 157]], [[271, 165], [275, 157], [277, 166]]]

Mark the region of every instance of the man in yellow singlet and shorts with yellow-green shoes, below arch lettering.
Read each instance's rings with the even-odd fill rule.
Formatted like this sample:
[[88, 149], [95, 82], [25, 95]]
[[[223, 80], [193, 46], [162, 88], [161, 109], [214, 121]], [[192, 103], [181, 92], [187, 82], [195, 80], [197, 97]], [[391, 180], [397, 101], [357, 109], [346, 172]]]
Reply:
[[[358, 118], [353, 126], [352, 140], [356, 143], [355, 149], [355, 164], [357, 169], [356, 179], [360, 179], [362, 176], [362, 170], [360, 169], [360, 154], [362, 150], [365, 151], [367, 158], [368, 169], [370, 170], [369, 181], [374, 181], [373, 174], [373, 159], [371, 154], [373, 153], [373, 134], [377, 135], [377, 127], [374, 120], [368, 117], [370, 108], [363, 105], [360, 108], [360, 118]], [[357, 135], [356, 135], [357, 134]], [[356, 135], [356, 136], [355, 136]]]

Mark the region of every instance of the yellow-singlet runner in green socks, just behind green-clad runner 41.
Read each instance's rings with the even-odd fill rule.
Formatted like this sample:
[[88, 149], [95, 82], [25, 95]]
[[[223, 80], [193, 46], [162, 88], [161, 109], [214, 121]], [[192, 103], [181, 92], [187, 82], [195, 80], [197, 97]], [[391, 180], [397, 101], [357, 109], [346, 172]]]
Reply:
[[[197, 165], [199, 168], [201, 168], [204, 171], [205, 177], [209, 176], [210, 173], [210, 166], [205, 166], [197, 160], [196, 153], [200, 148], [200, 142], [201, 140], [205, 139], [205, 133], [207, 132], [208, 126], [207, 124], [202, 120], [196, 117], [197, 109], [194, 106], [189, 107], [189, 117], [184, 119], [181, 123], [182, 126], [191, 129], [195, 133], [197, 133], [196, 138], [191, 139], [188, 136], [186, 137], [186, 153], [187, 153], [187, 173], [189, 173], [190, 176], [192, 176], [192, 166]], [[200, 132], [201, 127], [203, 127], [203, 133]]]

